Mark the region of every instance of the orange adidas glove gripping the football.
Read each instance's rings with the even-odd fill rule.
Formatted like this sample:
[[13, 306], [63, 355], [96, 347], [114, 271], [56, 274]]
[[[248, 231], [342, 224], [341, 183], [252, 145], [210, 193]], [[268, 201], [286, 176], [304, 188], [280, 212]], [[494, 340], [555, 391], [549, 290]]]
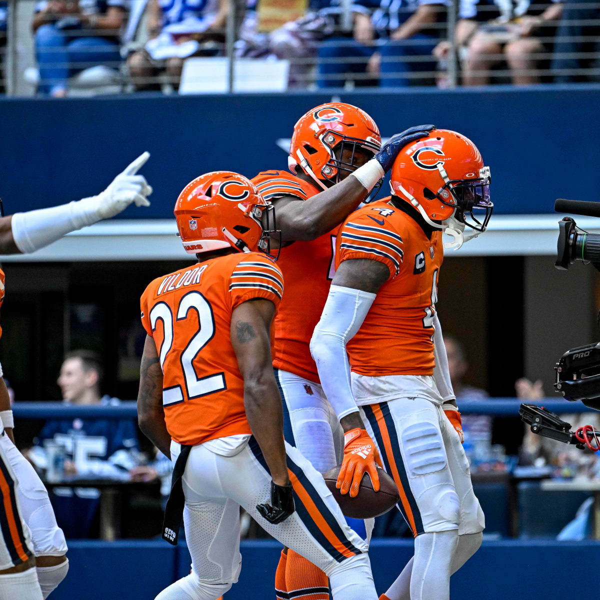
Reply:
[[373, 490], [379, 491], [379, 475], [377, 464], [382, 466], [375, 442], [364, 429], [353, 429], [344, 434], [344, 460], [341, 463], [335, 487], [342, 494], [350, 490], [350, 497], [358, 496], [362, 476], [368, 473], [373, 483]]

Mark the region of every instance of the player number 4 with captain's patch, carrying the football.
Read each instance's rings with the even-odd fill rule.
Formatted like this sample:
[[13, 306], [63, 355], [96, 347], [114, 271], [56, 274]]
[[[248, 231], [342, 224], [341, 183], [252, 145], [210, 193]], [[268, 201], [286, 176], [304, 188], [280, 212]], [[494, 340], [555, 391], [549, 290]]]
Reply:
[[[450, 575], [481, 545], [484, 516], [435, 303], [442, 232], [452, 230], [457, 245], [472, 237], [465, 226], [485, 231], [489, 183], [473, 142], [433, 130], [398, 155], [393, 195], [350, 215], [338, 233], [337, 270], [311, 351], [337, 414], [364, 422], [346, 435], [376, 442], [415, 536], [415, 556], [383, 600], [447, 600]], [[344, 457], [341, 493], [361, 476]]]

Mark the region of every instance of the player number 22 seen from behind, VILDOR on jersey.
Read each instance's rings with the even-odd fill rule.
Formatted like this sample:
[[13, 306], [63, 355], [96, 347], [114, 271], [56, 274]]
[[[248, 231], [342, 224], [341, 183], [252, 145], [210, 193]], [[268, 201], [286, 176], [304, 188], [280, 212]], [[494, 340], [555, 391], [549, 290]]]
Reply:
[[265, 254], [278, 232], [262, 226], [275, 224], [272, 206], [248, 179], [215, 172], [185, 187], [175, 216], [199, 262], [142, 295], [137, 403], [142, 431], [175, 461], [163, 537], [176, 543], [183, 511], [192, 571], [157, 600], [215, 600], [230, 589], [241, 568], [240, 506], [323, 569], [335, 600], [377, 600], [367, 544], [320, 473], [284, 442], [271, 358], [284, 280]]

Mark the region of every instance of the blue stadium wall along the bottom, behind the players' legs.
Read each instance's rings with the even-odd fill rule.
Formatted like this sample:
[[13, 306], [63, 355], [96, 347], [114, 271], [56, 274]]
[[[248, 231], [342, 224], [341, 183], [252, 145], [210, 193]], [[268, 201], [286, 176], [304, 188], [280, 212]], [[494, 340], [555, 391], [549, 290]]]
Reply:
[[[152, 600], [190, 572], [184, 544], [162, 541], [69, 544], [70, 569], [52, 600]], [[242, 571], [225, 600], [274, 598], [273, 579], [281, 545], [242, 541]], [[413, 553], [410, 540], [373, 540], [371, 566], [377, 592], [384, 592]], [[600, 585], [598, 542], [484, 541], [452, 577], [453, 598], [553, 600]]]

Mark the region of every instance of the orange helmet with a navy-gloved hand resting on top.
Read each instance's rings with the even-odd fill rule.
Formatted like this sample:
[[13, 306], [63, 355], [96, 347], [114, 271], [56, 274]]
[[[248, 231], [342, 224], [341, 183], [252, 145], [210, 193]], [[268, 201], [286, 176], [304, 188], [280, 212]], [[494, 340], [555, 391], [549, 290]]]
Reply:
[[392, 166], [390, 185], [392, 194], [415, 206], [431, 226], [460, 231], [461, 241], [464, 226], [485, 231], [494, 207], [490, 167], [477, 146], [456, 131], [434, 129], [404, 148]]

